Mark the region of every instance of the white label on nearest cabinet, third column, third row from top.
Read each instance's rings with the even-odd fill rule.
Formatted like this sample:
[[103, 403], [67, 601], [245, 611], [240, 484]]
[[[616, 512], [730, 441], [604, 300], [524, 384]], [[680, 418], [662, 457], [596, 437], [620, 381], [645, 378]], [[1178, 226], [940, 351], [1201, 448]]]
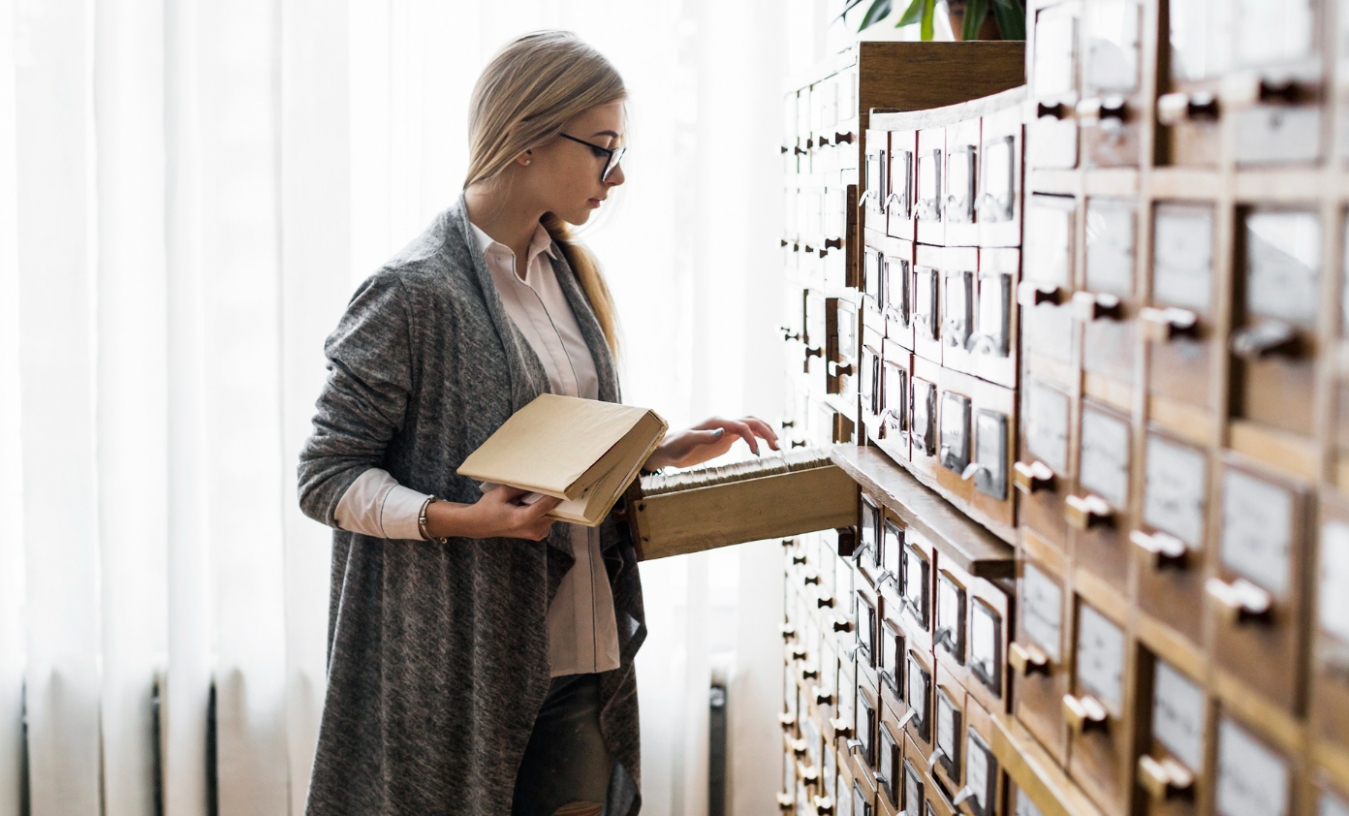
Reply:
[[1175, 535], [1191, 549], [1201, 549], [1207, 469], [1206, 457], [1199, 450], [1149, 436], [1143, 521]]

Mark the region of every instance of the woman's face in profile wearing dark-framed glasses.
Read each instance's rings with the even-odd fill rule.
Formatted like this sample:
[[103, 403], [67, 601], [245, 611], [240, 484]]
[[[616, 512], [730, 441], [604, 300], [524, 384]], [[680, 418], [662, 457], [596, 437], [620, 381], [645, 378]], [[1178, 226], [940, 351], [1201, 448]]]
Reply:
[[[572, 139], [614, 150], [623, 139], [623, 103], [591, 108], [572, 119], [563, 132]], [[608, 163], [608, 154], [572, 139], [558, 136], [530, 150], [522, 156], [529, 165], [521, 170], [548, 212], [568, 224], [584, 224], [608, 197], [610, 189], [623, 183], [623, 167], [615, 167], [602, 182], [599, 177]]]

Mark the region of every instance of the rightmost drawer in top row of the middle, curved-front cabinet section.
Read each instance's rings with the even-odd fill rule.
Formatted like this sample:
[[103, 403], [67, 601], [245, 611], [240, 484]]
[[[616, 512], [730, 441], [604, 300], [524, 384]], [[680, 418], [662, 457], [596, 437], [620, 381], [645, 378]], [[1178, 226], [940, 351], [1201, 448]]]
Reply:
[[1021, 109], [983, 117], [979, 156], [979, 245], [1021, 245]]

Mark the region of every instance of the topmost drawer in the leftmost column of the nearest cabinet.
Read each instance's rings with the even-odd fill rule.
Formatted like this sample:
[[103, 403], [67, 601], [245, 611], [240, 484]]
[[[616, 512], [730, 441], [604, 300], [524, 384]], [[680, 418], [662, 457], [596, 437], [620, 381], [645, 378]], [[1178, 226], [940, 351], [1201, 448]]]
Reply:
[[1035, 26], [1029, 59], [1029, 94], [1033, 119], [1025, 127], [1025, 161], [1033, 169], [1078, 166], [1078, 124], [1072, 111], [1079, 97], [1079, 3], [1059, 3], [1031, 9]]

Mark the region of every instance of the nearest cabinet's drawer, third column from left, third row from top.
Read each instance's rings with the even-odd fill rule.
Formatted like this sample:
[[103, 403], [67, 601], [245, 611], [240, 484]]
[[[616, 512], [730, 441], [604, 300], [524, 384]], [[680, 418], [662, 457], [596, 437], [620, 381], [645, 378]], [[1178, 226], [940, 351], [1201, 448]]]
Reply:
[[1130, 533], [1139, 562], [1139, 608], [1203, 643], [1209, 457], [1157, 430], [1143, 463], [1140, 529]]

